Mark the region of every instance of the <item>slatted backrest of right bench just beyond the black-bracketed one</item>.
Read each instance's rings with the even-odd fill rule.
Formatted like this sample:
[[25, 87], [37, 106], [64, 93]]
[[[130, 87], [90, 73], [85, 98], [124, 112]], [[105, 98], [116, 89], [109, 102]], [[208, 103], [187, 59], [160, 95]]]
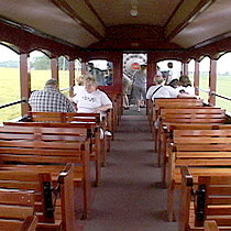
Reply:
[[174, 130], [173, 143], [175, 165], [231, 166], [231, 130]]

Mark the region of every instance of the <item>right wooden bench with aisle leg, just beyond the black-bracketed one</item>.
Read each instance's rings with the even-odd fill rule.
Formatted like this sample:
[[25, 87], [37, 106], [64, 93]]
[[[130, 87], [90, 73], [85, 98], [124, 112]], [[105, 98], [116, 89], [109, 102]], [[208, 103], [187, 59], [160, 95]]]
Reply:
[[189, 170], [211, 168], [231, 173], [231, 130], [175, 130], [168, 160], [168, 220], [174, 219], [174, 191], [180, 186], [180, 166]]

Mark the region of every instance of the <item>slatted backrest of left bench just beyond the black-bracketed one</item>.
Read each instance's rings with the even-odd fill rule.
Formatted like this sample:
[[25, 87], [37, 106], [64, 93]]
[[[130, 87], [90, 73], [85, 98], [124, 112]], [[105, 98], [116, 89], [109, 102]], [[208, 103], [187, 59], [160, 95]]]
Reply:
[[1, 127], [0, 162], [88, 164], [89, 142], [75, 128]]

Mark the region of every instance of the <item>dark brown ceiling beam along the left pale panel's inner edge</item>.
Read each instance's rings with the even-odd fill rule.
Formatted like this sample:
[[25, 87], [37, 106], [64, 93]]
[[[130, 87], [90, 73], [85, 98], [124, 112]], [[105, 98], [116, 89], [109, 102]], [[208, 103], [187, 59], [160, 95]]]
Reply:
[[70, 16], [78, 25], [86, 29], [90, 34], [92, 34], [98, 40], [102, 40], [103, 36], [84, 19], [81, 19], [76, 11], [66, 2], [66, 0], [48, 0], [55, 4], [59, 10]]

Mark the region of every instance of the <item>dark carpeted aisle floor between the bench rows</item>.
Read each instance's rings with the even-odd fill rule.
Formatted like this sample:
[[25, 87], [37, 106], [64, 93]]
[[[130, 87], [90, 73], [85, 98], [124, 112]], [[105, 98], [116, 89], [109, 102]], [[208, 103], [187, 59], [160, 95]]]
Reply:
[[[129, 112], [125, 112], [129, 114]], [[147, 119], [123, 116], [84, 231], [176, 231], [166, 221], [166, 189]]]

